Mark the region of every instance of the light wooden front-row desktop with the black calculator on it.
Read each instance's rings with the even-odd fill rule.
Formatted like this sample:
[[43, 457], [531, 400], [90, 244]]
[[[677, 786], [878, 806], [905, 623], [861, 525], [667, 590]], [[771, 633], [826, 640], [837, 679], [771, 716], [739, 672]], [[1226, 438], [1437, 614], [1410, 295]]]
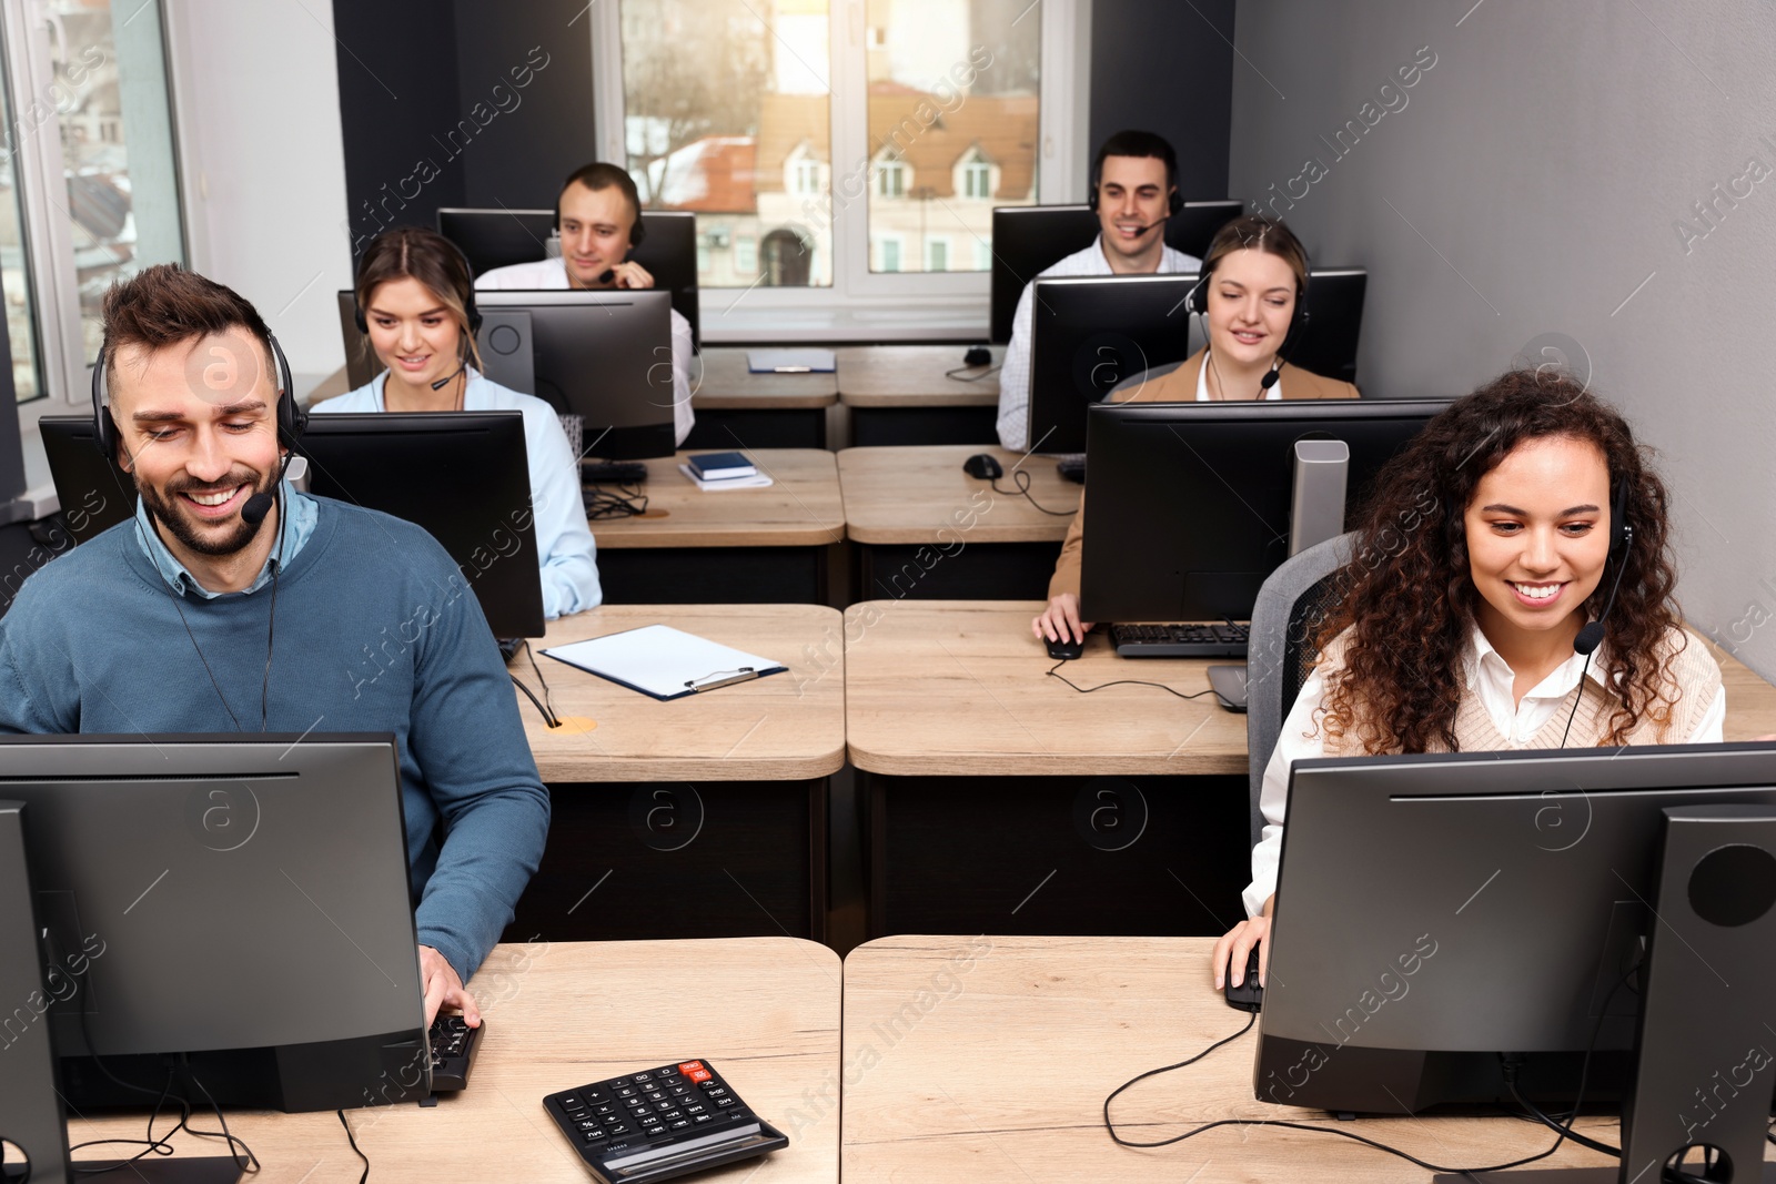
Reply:
[[[689, 1056], [714, 1062], [790, 1136], [762, 1161], [698, 1179], [838, 1179], [838, 1113], [805, 1097], [838, 1077], [840, 966], [831, 950], [787, 937], [504, 944], [469, 989], [487, 1017], [469, 1088], [437, 1108], [346, 1111], [373, 1180], [584, 1184], [591, 1177], [542, 1097]], [[69, 1141], [140, 1138], [144, 1122], [69, 1122]], [[215, 1117], [194, 1122], [213, 1127]], [[231, 1111], [229, 1129], [263, 1164], [250, 1180], [352, 1184], [362, 1172], [332, 1111]], [[218, 1140], [186, 1133], [174, 1145], [186, 1156], [220, 1154]], [[117, 1148], [94, 1152], [103, 1159]]]

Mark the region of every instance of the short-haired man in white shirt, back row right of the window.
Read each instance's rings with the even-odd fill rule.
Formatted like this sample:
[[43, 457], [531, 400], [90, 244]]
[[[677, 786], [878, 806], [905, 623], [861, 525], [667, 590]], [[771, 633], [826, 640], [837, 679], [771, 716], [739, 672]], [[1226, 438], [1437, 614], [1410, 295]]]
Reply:
[[[1037, 275], [1176, 275], [1202, 266], [1195, 256], [1165, 245], [1165, 220], [1181, 204], [1177, 154], [1151, 131], [1117, 131], [1092, 163], [1092, 209], [1098, 240]], [[1030, 348], [1035, 284], [1025, 284], [1011, 323], [1011, 344], [1000, 369], [1000, 444], [1041, 447], [1030, 440]]]

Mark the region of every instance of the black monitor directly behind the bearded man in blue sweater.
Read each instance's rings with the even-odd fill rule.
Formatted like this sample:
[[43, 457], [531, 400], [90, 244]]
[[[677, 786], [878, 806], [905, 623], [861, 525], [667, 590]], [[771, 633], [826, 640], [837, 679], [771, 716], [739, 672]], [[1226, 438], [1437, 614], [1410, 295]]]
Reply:
[[[44, 415], [43, 447], [76, 543], [135, 513], [135, 483], [92, 446], [91, 415]], [[423, 525], [496, 637], [543, 635], [522, 412], [311, 415], [309, 492]]]

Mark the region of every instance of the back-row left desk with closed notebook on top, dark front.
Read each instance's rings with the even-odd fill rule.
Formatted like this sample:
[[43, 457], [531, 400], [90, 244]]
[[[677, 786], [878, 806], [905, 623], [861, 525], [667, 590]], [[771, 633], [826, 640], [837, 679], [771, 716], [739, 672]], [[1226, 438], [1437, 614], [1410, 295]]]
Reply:
[[826, 447], [828, 408], [838, 403], [835, 375], [753, 375], [748, 350], [703, 346], [693, 362], [696, 426], [686, 447]]

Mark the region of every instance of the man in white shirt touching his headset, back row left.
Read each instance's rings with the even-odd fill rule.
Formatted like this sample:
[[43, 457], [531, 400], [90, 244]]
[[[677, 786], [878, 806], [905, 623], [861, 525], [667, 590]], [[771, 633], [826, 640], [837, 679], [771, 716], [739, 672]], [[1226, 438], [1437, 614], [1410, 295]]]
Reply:
[[[641, 195], [618, 165], [595, 162], [575, 169], [556, 197], [561, 257], [513, 263], [483, 272], [476, 288], [654, 288], [654, 277], [629, 257], [641, 238]], [[671, 417], [678, 444], [691, 435], [691, 323], [671, 312]]]

